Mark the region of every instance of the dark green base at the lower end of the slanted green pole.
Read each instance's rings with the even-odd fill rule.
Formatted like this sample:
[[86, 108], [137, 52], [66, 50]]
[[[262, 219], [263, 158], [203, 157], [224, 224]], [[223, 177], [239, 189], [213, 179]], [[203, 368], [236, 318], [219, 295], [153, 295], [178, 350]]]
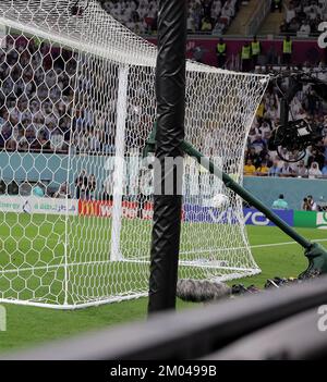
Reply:
[[299, 275], [299, 279], [311, 279], [327, 273], [327, 249], [320, 244], [314, 243], [304, 255], [308, 259], [307, 269]]

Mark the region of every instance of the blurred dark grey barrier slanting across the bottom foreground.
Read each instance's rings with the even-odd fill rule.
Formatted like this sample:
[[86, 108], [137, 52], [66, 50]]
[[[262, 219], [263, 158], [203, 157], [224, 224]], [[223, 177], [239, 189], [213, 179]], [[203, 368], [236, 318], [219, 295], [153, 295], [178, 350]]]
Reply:
[[[191, 310], [158, 313], [146, 322], [84, 334], [7, 359], [242, 359], [282, 358], [284, 354], [305, 358], [300, 347], [308, 348], [308, 344], [313, 357], [315, 347], [320, 355], [322, 346], [325, 352], [327, 347], [325, 305], [327, 276], [322, 276]], [[249, 346], [253, 353], [243, 353]], [[287, 346], [298, 349], [288, 352]]]

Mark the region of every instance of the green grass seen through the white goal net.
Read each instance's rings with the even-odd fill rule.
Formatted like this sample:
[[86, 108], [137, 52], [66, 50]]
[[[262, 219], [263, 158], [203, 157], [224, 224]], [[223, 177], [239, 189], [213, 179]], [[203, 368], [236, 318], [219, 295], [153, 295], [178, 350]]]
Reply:
[[[146, 220], [123, 219], [120, 249], [128, 261], [109, 261], [110, 219], [2, 213], [0, 298], [74, 305], [145, 294], [150, 227]], [[235, 273], [231, 266], [255, 268], [238, 225], [184, 223], [181, 243], [182, 279]], [[231, 247], [238, 248], [233, 258]]]

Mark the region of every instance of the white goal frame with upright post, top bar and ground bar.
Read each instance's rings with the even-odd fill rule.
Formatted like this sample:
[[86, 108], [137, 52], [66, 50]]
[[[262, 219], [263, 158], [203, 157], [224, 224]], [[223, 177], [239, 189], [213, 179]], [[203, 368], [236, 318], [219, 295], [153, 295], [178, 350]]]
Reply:
[[[29, 1], [29, 0], [28, 0]], [[126, 136], [126, 113], [128, 113], [128, 104], [126, 104], [126, 94], [128, 94], [128, 87], [129, 87], [129, 75], [130, 75], [130, 67], [131, 65], [134, 65], [133, 63], [133, 57], [131, 57], [131, 53], [129, 52], [123, 52], [121, 51], [121, 49], [117, 49], [117, 51], [110, 50], [108, 52], [108, 50], [106, 48], [104, 48], [102, 45], [90, 45], [88, 41], [84, 42], [83, 40], [77, 40], [72, 36], [65, 36], [64, 34], [56, 34], [56, 33], [50, 33], [47, 32], [46, 29], [41, 29], [40, 27], [37, 26], [32, 26], [28, 24], [24, 24], [21, 23], [20, 21], [14, 22], [10, 19], [5, 19], [3, 16], [0, 17], [0, 23], [2, 23], [2, 25], [5, 25], [9, 29], [12, 30], [19, 30], [23, 36], [33, 36], [33, 37], [38, 37], [40, 39], [44, 40], [50, 40], [51, 42], [56, 42], [59, 44], [61, 48], [63, 47], [69, 47], [69, 49], [73, 49], [76, 50], [78, 52], [83, 53], [87, 53], [90, 56], [94, 56], [96, 58], [102, 58], [106, 60], [116, 60], [116, 62], [119, 63], [119, 74], [118, 74], [118, 99], [117, 99], [117, 104], [118, 104], [118, 109], [117, 109], [117, 133], [116, 133], [116, 158], [114, 158], [114, 173], [113, 176], [118, 180], [118, 182], [114, 182], [114, 187], [113, 187], [113, 201], [112, 201], [112, 224], [111, 224], [111, 245], [110, 245], [110, 250], [107, 254], [108, 255], [108, 260], [107, 262], [109, 263], [111, 262], [117, 262], [117, 263], [124, 263], [124, 262], [142, 262], [143, 264], [147, 266], [149, 263], [149, 261], [147, 260], [137, 260], [137, 259], [128, 259], [124, 258], [124, 255], [121, 250], [121, 231], [122, 231], [122, 215], [123, 215], [123, 211], [122, 211], [122, 202], [121, 202], [121, 196], [123, 195], [123, 177], [121, 176], [121, 174], [123, 173], [122, 171], [122, 162], [125, 156], [125, 136]], [[136, 38], [136, 37], [135, 37]], [[140, 39], [141, 40], [141, 39]], [[142, 40], [143, 44], [148, 44]], [[149, 44], [148, 44], [149, 45]], [[142, 57], [141, 61], [137, 62], [137, 65], [140, 67], [144, 66], [150, 66], [154, 67], [154, 58], [153, 57]], [[191, 61], [187, 61], [186, 63], [187, 70], [189, 71], [196, 71], [198, 73], [204, 73], [206, 74], [208, 71], [211, 71], [213, 73], [217, 73], [217, 74], [226, 74], [228, 75], [233, 75], [233, 73], [228, 72], [228, 71], [220, 71], [217, 69], [209, 69], [206, 65], [201, 65], [198, 63], [194, 63]], [[210, 73], [211, 73], [210, 72]], [[240, 76], [240, 77], [246, 77], [249, 76], [247, 74], [242, 74], [242, 73], [237, 73], [235, 75]], [[265, 76], [256, 76], [253, 75], [253, 78], [255, 79], [255, 82], [259, 82], [262, 79], [265, 79]], [[265, 86], [262, 86], [262, 91], [264, 91]], [[254, 116], [254, 115], [253, 115]], [[246, 126], [244, 126], [244, 130], [249, 130], [250, 128], [250, 124], [252, 121], [246, 121]], [[245, 134], [246, 135], [246, 134]], [[246, 136], [245, 136], [246, 138]], [[243, 148], [245, 145], [245, 140], [243, 143]], [[69, 153], [70, 156], [70, 153]], [[70, 157], [69, 157], [70, 160]], [[68, 170], [69, 171], [69, 170]], [[66, 210], [68, 210], [68, 202], [69, 199], [65, 198], [65, 205], [66, 205]], [[65, 217], [65, 219], [68, 219], [68, 215]], [[241, 234], [240, 234], [241, 235]], [[247, 243], [247, 238], [243, 237], [243, 243]], [[65, 246], [68, 244], [65, 243]], [[244, 246], [244, 248], [246, 248], [246, 246]], [[214, 248], [213, 250], [215, 250], [217, 252], [217, 248]], [[206, 252], [208, 252], [208, 249], [204, 250]], [[250, 262], [254, 263], [254, 259], [252, 257], [252, 255], [250, 254], [250, 250], [247, 251], [247, 256], [250, 259]], [[5, 304], [16, 304], [16, 305], [29, 305], [29, 306], [36, 306], [36, 307], [47, 307], [47, 308], [55, 308], [55, 309], [75, 309], [75, 308], [85, 308], [85, 307], [89, 307], [89, 306], [99, 306], [99, 305], [104, 305], [104, 304], [108, 304], [108, 303], [114, 303], [114, 301], [121, 301], [121, 300], [129, 300], [129, 299], [134, 299], [134, 298], [140, 298], [140, 297], [144, 297], [147, 295], [147, 291], [144, 291], [143, 293], [140, 293], [137, 291], [131, 292], [129, 295], [118, 295], [118, 296], [110, 296], [110, 297], [106, 297], [106, 296], [98, 296], [98, 297], [94, 297], [93, 300], [89, 300], [87, 303], [84, 301], [77, 301], [76, 304], [70, 304], [69, 303], [69, 287], [68, 287], [68, 283], [70, 282], [69, 276], [68, 276], [68, 271], [69, 271], [69, 267], [71, 266], [71, 262], [68, 258], [68, 254], [65, 251], [64, 254], [64, 262], [58, 264], [59, 267], [62, 267], [64, 270], [64, 300], [62, 304], [51, 304], [51, 303], [40, 303], [41, 297], [40, 298], [35, 298], [35, 300], [21, 300], [21, 299], [11, 299], [11, 298], [2, 298], [0, 299], [0, 303], [5, 303]], [[192, 262], [193, 260], [185, 260], [185, 259], [181, 259], [180, 261], [180, 266], [181, 267], [197, 267], [197, 268], [210, 268], [208, 266], [204, 266], [201, 263], [195, 264], [195, 260]], [[51, 266], [45, 266], [45, 270], [49, 270]], [[252, 274], [257, 274], [259, 273], [259, 269], [258, 268], [237, 268], [237, 267], [225, 267], [221, 266], [220, 267], [216, 267], [211, 266], [211, 268], [219, 268], [219, 269], [228, 269], [231, 271], [246, 271], [246, 273], [244, 273], [243, 275], [252, 275]], [[3, 273], [5, 271], [0, 270], [0, 276], [1, 273]], [[20, 270], [17, 270], [17, 274], [19, 274]], [[228, 275], [222, 275], [220, 278], [220, 280], [232, 280], [237, 276], [240, 276], [238, 273], [229, 273]], [[37, 300], [38, 299], [38, 300]]]

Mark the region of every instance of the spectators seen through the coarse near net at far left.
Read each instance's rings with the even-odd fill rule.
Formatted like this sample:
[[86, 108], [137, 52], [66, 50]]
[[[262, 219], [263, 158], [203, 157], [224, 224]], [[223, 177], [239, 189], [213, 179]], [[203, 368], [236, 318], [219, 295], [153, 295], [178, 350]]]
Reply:
[[8, 37], [0, 50], [0, 147], [66, 151], [75, 74], [69, 51]]

